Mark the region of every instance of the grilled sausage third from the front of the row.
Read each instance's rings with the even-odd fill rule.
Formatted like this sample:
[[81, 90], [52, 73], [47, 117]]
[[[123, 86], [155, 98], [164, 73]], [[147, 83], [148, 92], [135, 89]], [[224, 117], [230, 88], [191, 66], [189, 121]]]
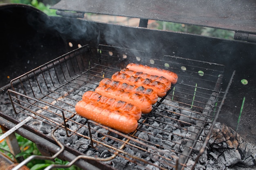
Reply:
[[118, 90], [107, 86], [98, 86], [95, 89], [95, 92], [101, 94], [102, 96], [116, 98], [117, 100], [122, 100], [124, 102], [136, 105], [141, 109], [141, 113], [149, 113], [152, 110], [150, 99], [140, 94], [132, 94], [129, 92], [124, 92], [123, 90]]

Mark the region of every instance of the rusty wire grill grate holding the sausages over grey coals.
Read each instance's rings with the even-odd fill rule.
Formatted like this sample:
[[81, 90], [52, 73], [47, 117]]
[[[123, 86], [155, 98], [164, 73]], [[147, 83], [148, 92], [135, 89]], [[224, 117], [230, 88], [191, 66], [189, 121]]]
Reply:
[[[130, 62], [170, 69], [179, 76], [168, 94], [141, 117], [137, 130], [125, 135], [78, 116], [75, 105], [83, 93]], [[81, 158], [109, 165], [118, 160], [124, 167], [182, 169], [199, 155], [211, 133], [224, 96], [223, 72], [224, 65], [216, 63], [146, 57], [143, 51], [104, 45], [99, 46], [98, 56], [90, 56], [88, 46], [83, 46], [12, 80], [9, 95], [17, 114], [56, 127], [58, 140], [79, 149], [86, 155]], [[80, 141], [79, 147], [72, 144], [74, 139]]]

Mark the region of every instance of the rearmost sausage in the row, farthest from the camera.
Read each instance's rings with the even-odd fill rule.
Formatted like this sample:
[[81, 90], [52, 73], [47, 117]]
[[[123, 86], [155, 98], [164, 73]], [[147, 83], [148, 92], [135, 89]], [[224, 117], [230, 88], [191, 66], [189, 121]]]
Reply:
[[149, 67], [147, 65], [141, 65], [141, 64], [135, 64], [135, 63], [129, 63], [126, 68], [129, 70], [133, 70], [135, 72], [143, 72], [146, 74], [152, 74], [156, 76], [163, 76], [167, 78], [171, 83], [174, 85], [177, 83], [178, 76], [174, 72], [171, 72], [169, 70], [164, 70], [160, 68], [154, 68], [154, 67]]

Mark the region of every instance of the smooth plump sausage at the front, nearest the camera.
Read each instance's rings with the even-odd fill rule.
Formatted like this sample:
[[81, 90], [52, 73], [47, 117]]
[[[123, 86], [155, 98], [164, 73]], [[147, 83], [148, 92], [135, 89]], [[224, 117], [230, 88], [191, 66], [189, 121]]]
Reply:
[[81, 100], [76, 103], [75, 109], [80, 116], [123, 133], [131, 133], [138, 127], [138, 122], [132, 115], [112, 110], [97, 102]]

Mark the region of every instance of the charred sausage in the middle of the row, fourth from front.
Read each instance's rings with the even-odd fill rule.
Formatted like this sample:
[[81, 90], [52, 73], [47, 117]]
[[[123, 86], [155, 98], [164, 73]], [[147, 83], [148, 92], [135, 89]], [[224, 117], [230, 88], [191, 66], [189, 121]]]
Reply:
[[120, 81], [115, 81], [110, 78], [103, 78], [99, 82], [99, 86], [105, 85], [107, 87], [112, 87], [119, 90], [124, 90], [125, 92], [137, 93], [142, 96], [147, 96], [151, 100], [151, 104], [154, 105], [157, 102], [157, 93], [153, 89], [147, 89], [143, 86], [130, 85], [127, 83], [122, 83]]

